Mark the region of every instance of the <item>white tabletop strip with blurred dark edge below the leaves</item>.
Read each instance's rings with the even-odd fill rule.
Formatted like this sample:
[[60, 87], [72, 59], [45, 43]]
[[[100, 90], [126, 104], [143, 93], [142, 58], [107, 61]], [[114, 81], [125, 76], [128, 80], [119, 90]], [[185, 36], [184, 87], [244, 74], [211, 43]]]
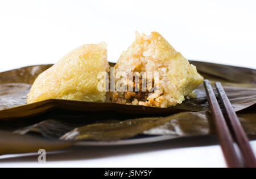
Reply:
[[[36, 153], [0, 156], [0, 167], [225, 167], [217, 138], [183, 138], [115, 147], [72, 147], [47, 152], [46, 164]], [[205, 146], [204, 146], [205, 145]], [[256, 141], [251, 141], [256, 152]]]

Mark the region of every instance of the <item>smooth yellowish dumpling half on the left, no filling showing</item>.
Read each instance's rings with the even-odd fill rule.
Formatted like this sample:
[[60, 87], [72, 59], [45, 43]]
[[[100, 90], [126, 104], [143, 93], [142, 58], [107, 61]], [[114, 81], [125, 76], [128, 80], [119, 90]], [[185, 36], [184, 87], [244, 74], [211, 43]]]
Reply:
[[46, 99], [104, 102], [105, 91], [98, 91], [97, 75], [109, 72], [106, 43], [85, 44], [68, 53], [36, 78], [27, 103]]

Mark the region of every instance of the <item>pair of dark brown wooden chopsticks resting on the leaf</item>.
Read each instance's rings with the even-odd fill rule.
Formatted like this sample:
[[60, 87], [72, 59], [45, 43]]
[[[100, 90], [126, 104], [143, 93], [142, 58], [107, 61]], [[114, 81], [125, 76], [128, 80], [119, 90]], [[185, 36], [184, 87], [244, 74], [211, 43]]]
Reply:
[[[222, 152], [228, 167], [256, 167], [256, 159], [253, 150], [250, 147], [249, 140], [242, 128], [242, 125], [234, 111], [225, 91], [220, 82], [216, 82], [216, 89], [220, 97], [222, 106], [224, 107], [226, 119], [222, 114], [221, 107], [209, 80], [204, 80], [204, 87], [207, 92], [210, 109], [212, 110], [213, 120], [216, 126], [216, 132]], [[229, 124], [229, 125], [228, 125]], [[237, 143], [240, 149], [243, 161], [238, 157], [237, 150], [234, 147]]]

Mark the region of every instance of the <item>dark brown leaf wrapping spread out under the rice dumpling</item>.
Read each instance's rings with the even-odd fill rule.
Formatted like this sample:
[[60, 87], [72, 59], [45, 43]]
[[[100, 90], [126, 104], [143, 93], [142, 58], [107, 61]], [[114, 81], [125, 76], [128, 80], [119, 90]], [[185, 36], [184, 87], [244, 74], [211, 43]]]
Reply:
[[[200, 61], [191, 63], [208, 80], [222, 83], [246, 133], [256, 135], [256, 70]], [[36, 143], [41, 140], [43, 144], [47, 141], [46, 147], [52, 141], [60, 141], [52, 148], [58, 149], [77, 140], [112, 141], [138, 135], [180, 138], [215, 133], [203, 85], [195, 90], [197, 98], [168, 108], [57, 99], [26, 105], [35, 78], [50, 66], [36, 65], [0, 73], [0, 130], [5, 131], [0, 131], [5, 136], [0, 144], [6, 145], [0, 149], [0, 155], [36, 151], [41, 146], [40, 142], [40, 145]], [[44, 138], [31, 136], [34, 134]], [[34, 147], [17, 149], [21, 146], [18, 140]]]

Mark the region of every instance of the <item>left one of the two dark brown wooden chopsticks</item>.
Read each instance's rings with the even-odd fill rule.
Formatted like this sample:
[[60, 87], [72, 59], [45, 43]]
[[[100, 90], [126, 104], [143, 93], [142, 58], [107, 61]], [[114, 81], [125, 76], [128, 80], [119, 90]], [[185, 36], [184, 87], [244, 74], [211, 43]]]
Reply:
[[228, 124], [225, 121], [221, 108], [214, 95], [209, 80], [204, 80], [205, 91], [207, 92], [210, 109], [212, 110], [213, 120], [216, 126], [216, 132], [220, 141], [221, 149], [224, 154], [228, 167], [242, 167], [242, 161], [238, 158], [236, 149], [234, 148], [234, 140], [229, 131]]

